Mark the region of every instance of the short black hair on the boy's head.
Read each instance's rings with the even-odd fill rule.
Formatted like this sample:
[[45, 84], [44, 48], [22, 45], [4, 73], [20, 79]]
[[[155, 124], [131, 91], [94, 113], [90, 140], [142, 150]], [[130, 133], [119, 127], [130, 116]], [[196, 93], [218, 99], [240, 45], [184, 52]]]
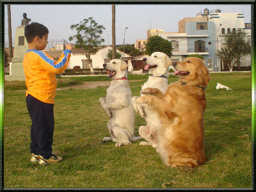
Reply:
[[42, 38], [42, 36], [48, 33], [49, 33], [48, 29], [44, 25], [38, 22], [32, 22], [31, 24], [25, 26], [25, 36], [28, 43], [33, 42], [33, 39], [36, 36], [39, 36], [40, 38]]

